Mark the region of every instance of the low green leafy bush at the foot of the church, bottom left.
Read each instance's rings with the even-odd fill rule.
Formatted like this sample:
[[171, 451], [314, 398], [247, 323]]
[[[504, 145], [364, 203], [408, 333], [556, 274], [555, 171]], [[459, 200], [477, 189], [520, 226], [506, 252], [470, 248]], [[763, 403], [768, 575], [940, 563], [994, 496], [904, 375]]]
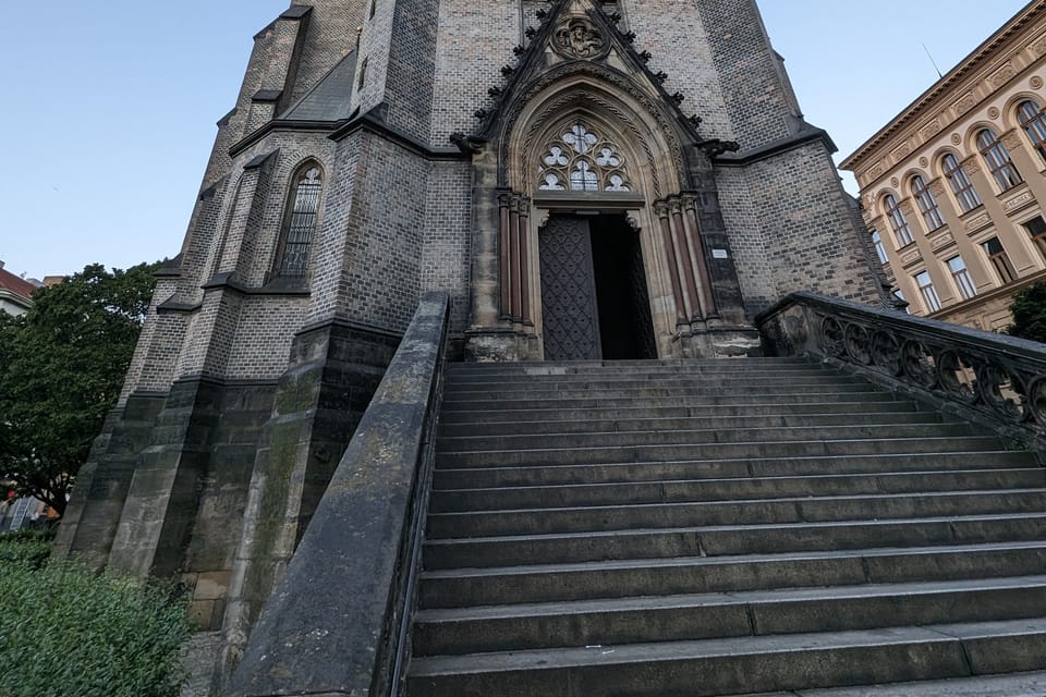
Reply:
[[0, 693], [177, 697], [184, 603], [73, 562], [38, 567], [40, 545], [0, 538]]

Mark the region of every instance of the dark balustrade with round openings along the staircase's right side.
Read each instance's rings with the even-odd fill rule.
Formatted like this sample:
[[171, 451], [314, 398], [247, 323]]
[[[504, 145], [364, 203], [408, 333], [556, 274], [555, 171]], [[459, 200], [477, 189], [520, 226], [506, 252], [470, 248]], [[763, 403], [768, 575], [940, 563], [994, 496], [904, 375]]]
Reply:
[[813, 293], [756, 318], [766, 351], [811, 355], [1046, 451], [1046, 345]]

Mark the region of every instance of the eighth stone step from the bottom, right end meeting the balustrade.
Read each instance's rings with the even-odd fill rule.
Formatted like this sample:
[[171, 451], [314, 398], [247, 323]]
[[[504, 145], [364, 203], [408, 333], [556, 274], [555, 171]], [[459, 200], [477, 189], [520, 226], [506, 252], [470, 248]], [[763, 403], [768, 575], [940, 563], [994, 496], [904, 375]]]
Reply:
[[733, 443], [673, 443], [611, 448], [543, 448], [531, 450], [437, 451], [438, 467], [487, 467], [506, 465], [595, 465], [678, 460], [732, 460], [738, 457], [868, 455], [970, 452], [999, 450], [999, 441], [982, 436], [941, 438], [878, 438], [840, 440], [768, 440]]

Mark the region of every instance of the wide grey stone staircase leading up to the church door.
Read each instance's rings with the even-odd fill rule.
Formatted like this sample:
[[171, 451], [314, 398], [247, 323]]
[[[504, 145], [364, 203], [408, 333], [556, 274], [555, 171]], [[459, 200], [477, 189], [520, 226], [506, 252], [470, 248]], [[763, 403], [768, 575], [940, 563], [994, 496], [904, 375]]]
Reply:
[[1046, 470], [860, 379], [453, 365], [437, 452], [410, 697], [1046, 694]]

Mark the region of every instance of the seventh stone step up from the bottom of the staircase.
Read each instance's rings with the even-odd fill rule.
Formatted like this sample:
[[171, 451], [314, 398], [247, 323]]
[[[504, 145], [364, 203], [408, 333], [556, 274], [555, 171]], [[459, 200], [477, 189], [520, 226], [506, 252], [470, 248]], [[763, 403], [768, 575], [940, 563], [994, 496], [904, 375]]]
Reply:
[[[491, 461], [496, 463], [496, 461]], [[445, 465], [435, 473], [437, 489], [478, 489], [518, 486], [615, 484], [633, 481], [693, 480], [775, 476], [827, 476], [832, 474], [989, 469], [1039, 465], [1027, 451], [970, 451], [952, 453], [866, 454], [792, 457], [740, 457], [733, 460], [677, 460], [662, 462], [603, 463], [557, 466]]]

